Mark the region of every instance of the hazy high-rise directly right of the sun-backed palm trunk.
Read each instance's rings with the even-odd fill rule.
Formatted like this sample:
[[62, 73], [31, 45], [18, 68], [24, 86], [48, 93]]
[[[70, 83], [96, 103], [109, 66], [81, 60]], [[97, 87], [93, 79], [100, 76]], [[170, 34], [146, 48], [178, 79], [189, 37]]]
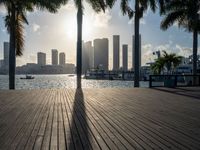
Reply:
[[94, 67], [94, 51], [92, 42], [83, 42], [82, 44], [82, 72], [85, 73], [87, 70]]

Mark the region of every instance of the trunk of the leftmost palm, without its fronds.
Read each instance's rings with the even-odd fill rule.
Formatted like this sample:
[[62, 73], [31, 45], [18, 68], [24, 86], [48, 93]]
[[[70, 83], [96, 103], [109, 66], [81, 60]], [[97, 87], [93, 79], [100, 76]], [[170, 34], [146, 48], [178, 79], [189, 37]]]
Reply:
[[12, 4], [9, 46], [9, 89], [15, 89], [15, 6]]

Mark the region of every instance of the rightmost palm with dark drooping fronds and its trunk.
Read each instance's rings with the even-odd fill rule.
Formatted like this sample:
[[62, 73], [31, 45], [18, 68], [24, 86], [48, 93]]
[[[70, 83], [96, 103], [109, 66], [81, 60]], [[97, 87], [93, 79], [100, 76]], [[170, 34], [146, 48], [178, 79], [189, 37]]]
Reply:
[[198, 32], [200, 31], [199, 20], [200, 2], [197, 0], [171, 0], [165, 3], [165, 15], [161, 22], [161, 29], [167, 30], [174, 23], [179, 27], [193, 32], [193, 74], [197, 73], [197, 51], [198, 51]]

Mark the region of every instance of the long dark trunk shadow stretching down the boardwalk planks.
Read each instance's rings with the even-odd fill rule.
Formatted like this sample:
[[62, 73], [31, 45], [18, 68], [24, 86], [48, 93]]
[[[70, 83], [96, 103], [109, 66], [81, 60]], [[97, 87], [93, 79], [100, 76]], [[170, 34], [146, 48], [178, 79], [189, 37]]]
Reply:
[[75, 91], [72, 109], [69, 149], [91, 149], [84, 94], [81, 88], [77, 88]]

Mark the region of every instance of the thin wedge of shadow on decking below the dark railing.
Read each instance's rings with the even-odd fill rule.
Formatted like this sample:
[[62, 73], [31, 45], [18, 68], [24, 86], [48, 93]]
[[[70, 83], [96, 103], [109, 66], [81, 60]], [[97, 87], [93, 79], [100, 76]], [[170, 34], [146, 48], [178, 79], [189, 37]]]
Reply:
[[167, 92], [167, 93], [171, 93], [171, 94], [176, 94], [176, 95], [180, 95], [180, 96], [185, 96], [185, 97], [189, 97], [189, 98], [194, 98], [199, 100], [200, 99], [200, 89], [194, 89], [194, 90], [189, 90], [189, 89], [185, 89], [185, 88], [175, 88], [175, 89], [171, 89], [171, 88], [152, 88], [154, 90], [158, 90], [158, 91], [162, 91], [162, 92]]

